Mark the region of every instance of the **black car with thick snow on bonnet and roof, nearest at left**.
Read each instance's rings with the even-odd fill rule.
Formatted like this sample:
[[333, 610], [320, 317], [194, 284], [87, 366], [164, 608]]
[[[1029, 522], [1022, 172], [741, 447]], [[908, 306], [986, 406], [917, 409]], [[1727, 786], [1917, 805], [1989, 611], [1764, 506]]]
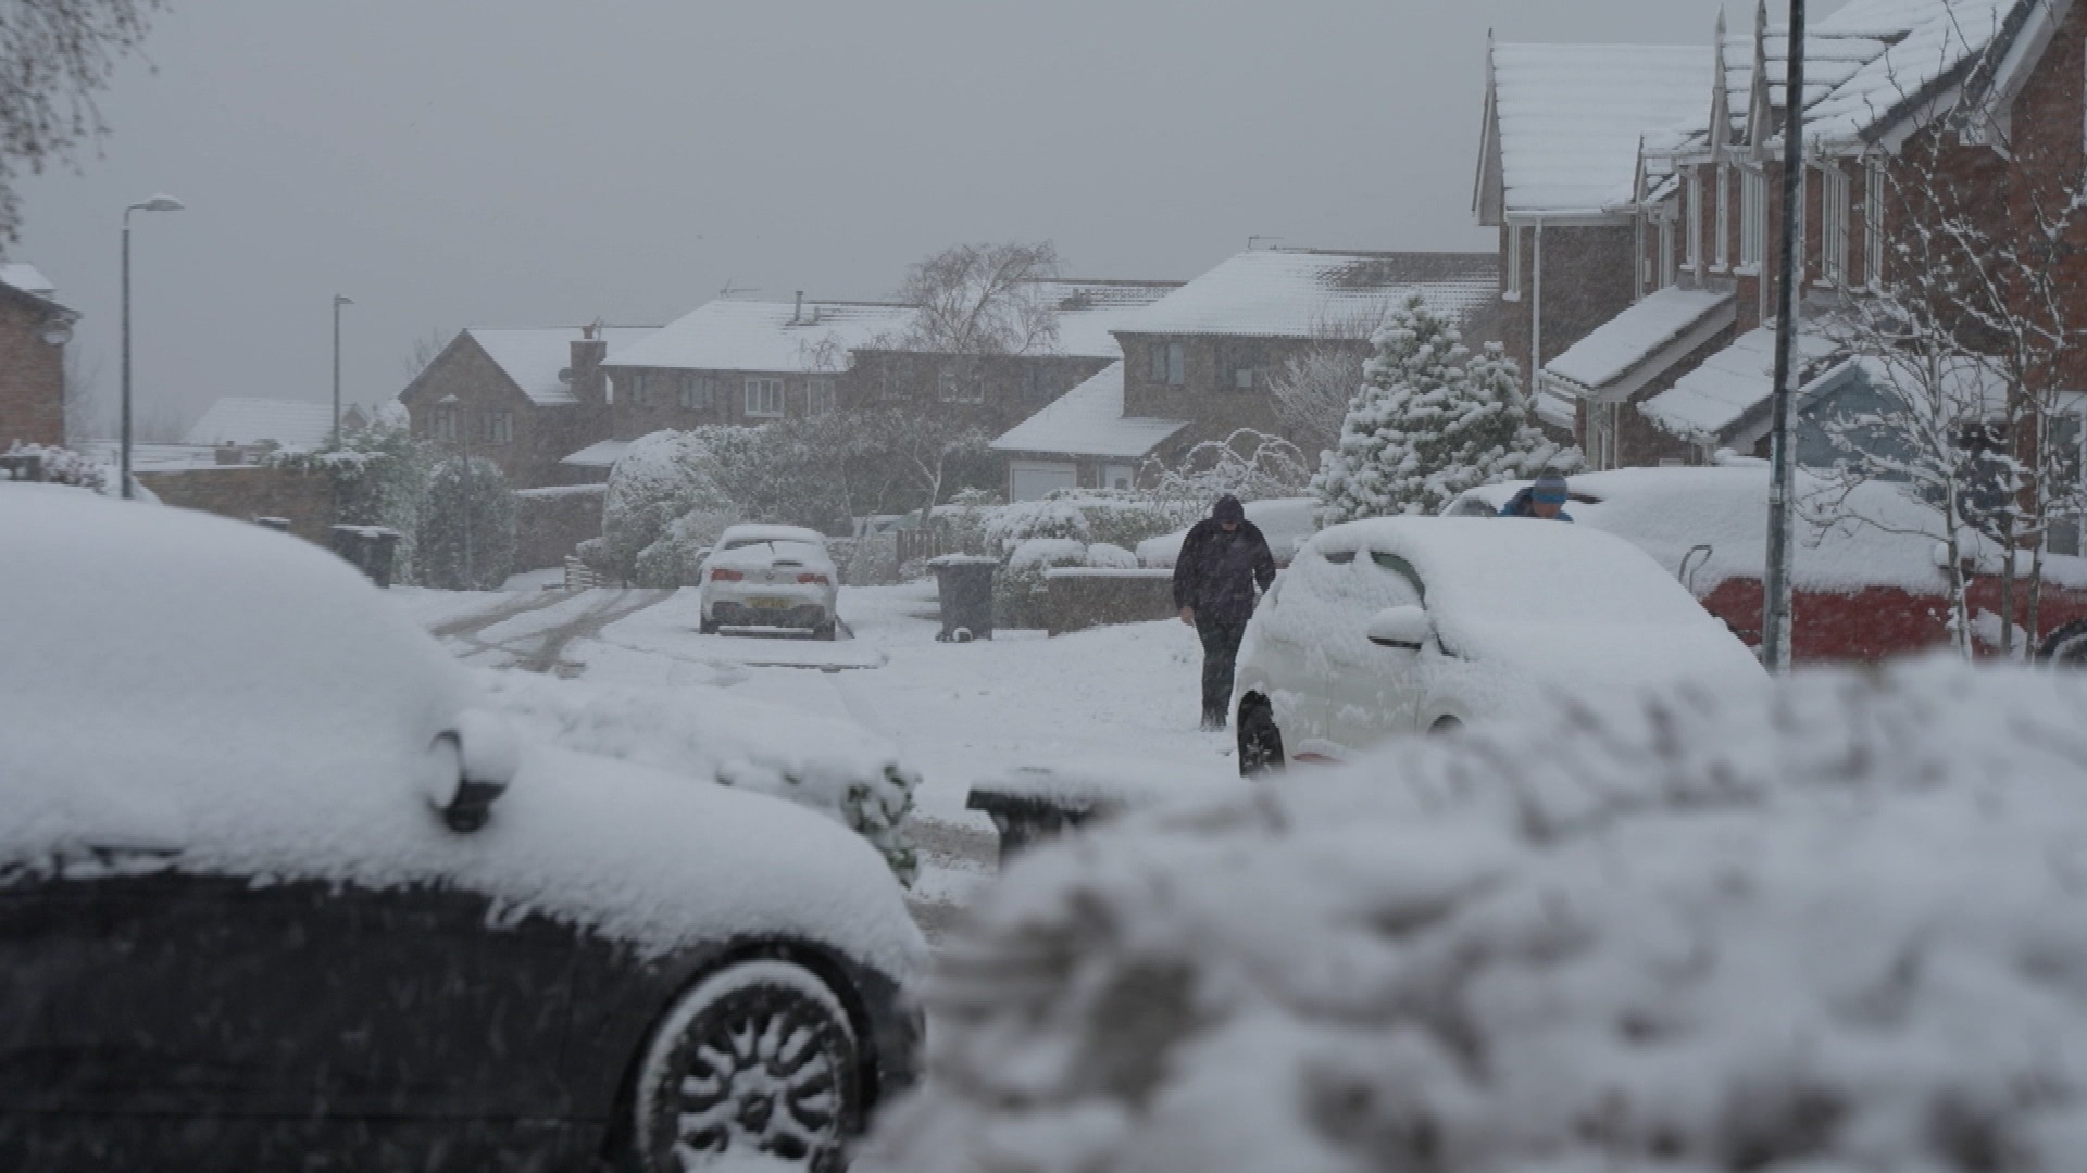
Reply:
[[0, 1169], [837, 1169], [925, 958], [793, 804], [520, 739], [298, 538], [0, 486]]

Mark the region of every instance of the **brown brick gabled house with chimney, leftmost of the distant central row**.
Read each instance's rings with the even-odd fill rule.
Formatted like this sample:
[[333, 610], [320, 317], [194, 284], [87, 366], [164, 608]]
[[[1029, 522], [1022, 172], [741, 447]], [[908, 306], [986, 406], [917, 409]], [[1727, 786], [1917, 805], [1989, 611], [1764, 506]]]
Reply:
[[399, 403], [415, 436], [467, 447], [515, 488], [603, 480], [605, 463], [566, 457], [611, 436], [603, 367], [614, 351], [653, 334], [649, 326], [463, 330]]

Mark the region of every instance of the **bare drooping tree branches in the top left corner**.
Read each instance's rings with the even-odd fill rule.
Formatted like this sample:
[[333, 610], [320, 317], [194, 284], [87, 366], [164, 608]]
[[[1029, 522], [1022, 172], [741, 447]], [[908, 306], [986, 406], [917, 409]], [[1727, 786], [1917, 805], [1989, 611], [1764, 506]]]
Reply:
[[109, 134], [96, 94], [165, 0], [6, 0], [0, 13], [0, 240], [21, 232], [15, 184]]

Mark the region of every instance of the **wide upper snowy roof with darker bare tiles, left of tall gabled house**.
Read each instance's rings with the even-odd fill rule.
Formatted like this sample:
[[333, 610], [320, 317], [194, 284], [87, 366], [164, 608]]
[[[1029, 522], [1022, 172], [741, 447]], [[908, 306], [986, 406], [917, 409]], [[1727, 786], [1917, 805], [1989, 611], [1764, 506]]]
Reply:
[[1125, 334], [1315, 338], [1373, 330], [1407, 294], [1465, 326], [1501, 296], [1496, 253], [1252, 248], [1135, 313]]

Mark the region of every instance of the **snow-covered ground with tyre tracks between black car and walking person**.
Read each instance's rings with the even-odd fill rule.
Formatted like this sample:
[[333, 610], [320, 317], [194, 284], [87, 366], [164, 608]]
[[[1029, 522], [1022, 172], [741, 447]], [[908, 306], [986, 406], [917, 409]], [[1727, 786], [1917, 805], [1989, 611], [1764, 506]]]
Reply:
[[887, 737], [922, 774], [914, 908], [931, 931], [991, 875], [991, 824], [964, 810], [975, 781], [1069, 760], [1213, 787], [1236, 776], [1231, 737], [1196, 731], [1202, 653], [1179, 622], [935, 643], [935, 586], [914, 582], [843, 589], [843, 635], [822, 643], [697, 635], [695, 591], [392, 597], [467, 664], [676, 689], [697, 703], [728, 691]]

